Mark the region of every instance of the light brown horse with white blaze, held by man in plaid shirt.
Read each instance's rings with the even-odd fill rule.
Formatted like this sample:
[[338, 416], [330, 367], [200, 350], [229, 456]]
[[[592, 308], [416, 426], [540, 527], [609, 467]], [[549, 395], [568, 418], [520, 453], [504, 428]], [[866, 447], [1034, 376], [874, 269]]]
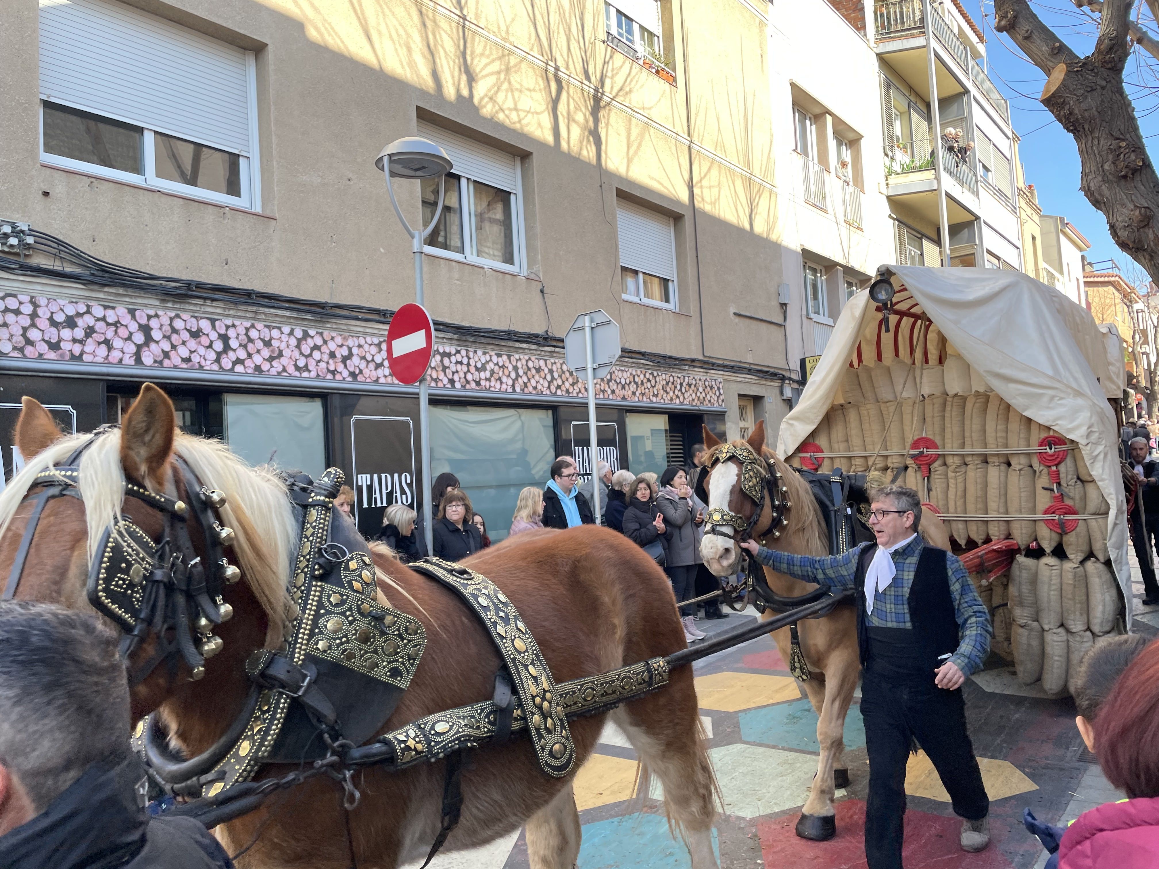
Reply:
[[[704, 433], [705, 446], [709, 450], [705, 457], [707, 463], [712, 459], [712, 451], [719, 447], [721, 441], [713, 437], [707, 428]], [[757, 423], [746, 441], [734, 441], [735, 445], [742, 443], [746, 443], [757, 455], [764, 458], [771, 473], [780, 473], [781, 484], [788, 488], [785, 499], [793, 506], [786, 511], [787, 523], [780, 527], [780, 538], [772, 536], [774, 528], [770, 525], [773, 507], [767, 498], [761, 516], [752, 521], [757, 505], [741, 490], [741, 462], [736, 458], [720, 462], [708, 473], [705, 480], [708, 506], [721, 507], [743, 517], [746, 521], [752, 521], [750, 527], [753, 530], [753, 536], [761, 546], [796, 555], [829, 555], [828, 532], [821, 509], [808, 483], [772, 450], [765, 447], [765, 423], [763, 421]], [[949, 536], [941, 520], [928, 510], [921, 513], [920, 532], [923, 539], [931, 546], [949, 549]], [[716, 576], [729, 576], [739, 567], [739, 549], [726, 536], [705, 534], [700, 543], [700, 554], [705, 564]], [[774, 572], [771, 568], [761, 567], [761, 569], [765, 571], [768, 586], [778, 594], [799, 597], [817, 587], [785, 574]], [[770, 611], [761, 618], [771, 619], [773, 615], [775, 614]], [[850, 710], [861, 670], [855, 612], [852, 606], [838, 606], [822, 619], [800, 621], [797, 630], [801, 651], [811, 674], [811, 678], [801, 685], [817, 713], [817, 744], [821, 746], [821, 759], [809, 799], [797, 820], [796, 833], [806, 839], [822, 841], [836, 835], [833, 794], [836, 787], [845, 787], [848, 783], [848, 769], [844, 762], [845, 715]], [[789, 660], [789, 628], [773, 631], [773, 638], [777, 641], [781, 658]]]

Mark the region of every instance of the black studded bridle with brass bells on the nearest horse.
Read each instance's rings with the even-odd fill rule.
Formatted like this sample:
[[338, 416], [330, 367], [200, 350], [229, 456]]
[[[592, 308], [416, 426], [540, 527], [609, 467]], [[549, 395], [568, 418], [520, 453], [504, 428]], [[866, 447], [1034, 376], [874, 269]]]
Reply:
[[[81, 457], [97, 438], [116, 428], [101, 426], [64, 465], [36, 475], [29, 489], [43, 488], [24, 496], [24, 501], [32, 502], [32, 510], [0, 599], [10, 600], [16, 594], [45, 505], [64, 496], [83, 503], [78, 488]], [[233, 543], [234, 532], [223, 526], [213, 513], [225, 504], [225, 495], [202, 485], [181, 458], [174, 463], [188, 504], [132, 480], [125, 481], [126, 496], [163, 514], [160, 541], [154, 541], [132, 519], [123, 516], [104, 530], [89, 565], [88, 601], [121, 628], [122, 657], [127, 660], [151, 635], [156, 637], [153, 653], [130, 671], [130, 685], [140, 684], [162, 662], [169, 666], [172, 678], [178, 656], [189, 666], [190, 679], [201, 679], [205, 674], [205, 659], [217, 655], [224, 645], [220, 637], [213, 636], [213, 628], [233, 615], [233, 607], [221, 599], [221, 589], [241, 578], [241, 571], [229, 564], [224, 553], [224, 548]], [[205, 558], [194, 548], [190, 518], [201, 528]]]

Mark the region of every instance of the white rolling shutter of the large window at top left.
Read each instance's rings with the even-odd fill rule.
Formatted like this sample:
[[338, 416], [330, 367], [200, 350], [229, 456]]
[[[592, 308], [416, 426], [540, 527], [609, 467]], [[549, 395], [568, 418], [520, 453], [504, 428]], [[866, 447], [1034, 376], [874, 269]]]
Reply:
[[249, 155], [246, 52], [109, 0], [41, 0], [41, 95]]

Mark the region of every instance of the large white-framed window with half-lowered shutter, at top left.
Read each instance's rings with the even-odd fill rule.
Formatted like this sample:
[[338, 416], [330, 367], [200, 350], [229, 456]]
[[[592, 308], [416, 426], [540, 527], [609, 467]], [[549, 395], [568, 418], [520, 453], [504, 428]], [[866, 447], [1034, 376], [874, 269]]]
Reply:
[[39, 0], [39, 38], [43, 162], [261, 209], [253, 52], [110, 0]]

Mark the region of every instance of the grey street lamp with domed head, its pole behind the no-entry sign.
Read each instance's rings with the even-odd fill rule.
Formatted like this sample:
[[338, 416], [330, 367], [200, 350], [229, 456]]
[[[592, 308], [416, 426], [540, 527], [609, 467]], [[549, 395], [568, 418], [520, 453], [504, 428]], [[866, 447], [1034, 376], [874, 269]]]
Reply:
[[[394, 213], [402, 221], [402, 228], [410, 236], [415, 251], [415, 301], [423, 304], [423, 239], [435, 228], [439, 214], [443, 213], [443, 193], [446, 187], [446, 174], [451, 171], [451, 158], [446, 155], [438, 145], [427, 139], [407, 137], [395, 139], [374, 159], [374, 168], [386, 175], [386, 189], [391, 193], [391, 204]], [[394, 187], [391, 178], [415, 178], [427, 181], [438, 178], [438, 205], [435, 206], [435, 216], [425, 229], [413, 229], [407, 218], [399, 207], [399, 200], [394, 197]], [[418, 381], [418, 452], [422, 455], [422, 489], [423, 499], [430, 496], [431, 490], [431, 438], [430, 438], [430, 403], [427, 395], [427, 375], [423, 374]], [[423, 541], [427, 543], [427, 554], [435, 554], [432, 540], [435, 511], [437, 504], [428, 504], [427, 521], [423, 523]], [[468, 517], [469, 521], [469, 517]]]

